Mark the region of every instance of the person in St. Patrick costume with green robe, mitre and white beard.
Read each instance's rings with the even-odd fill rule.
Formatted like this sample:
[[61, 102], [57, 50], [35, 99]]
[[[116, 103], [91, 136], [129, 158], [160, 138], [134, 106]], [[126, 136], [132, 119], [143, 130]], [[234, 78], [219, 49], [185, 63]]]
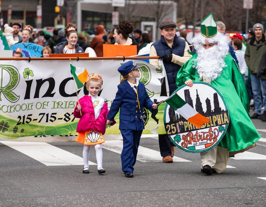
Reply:
[[201, 22], [201, 34], [194, 37], [197, 50], [179, 70], [177, 87], [192, 86], [195, 81], [204, 81], [216, 87], [223, 95], [229, 111], [226, 134], [214, 148], [200, 153], [201, 171], [206, 174], [226, 170], [228, 157], [244, 152], [254, 146], [260, 135], [249, 114], [249, 103], [243, 78], [237, 63], [228, 53], [230, 40], [217, 32], [213, 15]]

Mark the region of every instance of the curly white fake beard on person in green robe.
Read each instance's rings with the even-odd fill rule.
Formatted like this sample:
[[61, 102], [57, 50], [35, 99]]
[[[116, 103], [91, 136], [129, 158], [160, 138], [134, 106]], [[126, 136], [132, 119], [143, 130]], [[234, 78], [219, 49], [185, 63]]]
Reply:
[[[222, 51], [222, 52], [221, 52]], [[202, 80], [204, 77], [205, 82], [210, 83], [220, 76], [223, 72], [223, 68], [226, 67], [224, 62], [225, 53], [223, 50], [220, 50], [218, 45], [214, 45], [211, 48], [204, 49], [199, 46], [198, 57], [195, 60], [197, 62], [197, 73]], [[195, 66], [196, 64], [194, 64]]]

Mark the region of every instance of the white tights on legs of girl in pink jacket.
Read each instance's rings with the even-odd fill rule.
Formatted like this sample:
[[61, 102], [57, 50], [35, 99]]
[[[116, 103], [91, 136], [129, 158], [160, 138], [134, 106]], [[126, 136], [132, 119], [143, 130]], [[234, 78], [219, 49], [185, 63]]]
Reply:
[[[89, 168], [89, 156], [90, 156], [90, 146], [91, 145], [83, 145], [83, 162], [84, 162], [84, 168]], [[97, 169], [103, 169], [103, 151], [102, 151], [102, 145], [97, 144], [94, 145], [95, 152], [96, 152], [96, 160], [97, 160]]]

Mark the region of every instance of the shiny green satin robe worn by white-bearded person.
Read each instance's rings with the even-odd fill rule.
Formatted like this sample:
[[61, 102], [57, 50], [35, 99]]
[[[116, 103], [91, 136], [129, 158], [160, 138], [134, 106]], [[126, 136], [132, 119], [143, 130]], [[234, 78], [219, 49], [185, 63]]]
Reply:
[[[197, 58], [195, 54], [179, 70], [176, 77], [176, 86], [184, 85], [187, 80], [199, 80], [197, 70], [192, 67], [192, 61]], [[247, 146], [259, 140], [257, 132], [249, 117], [249, 103], [246, 87], [239, 70], [232, 56], [227, 54], [225, 57], [226, 67], [220, 77], [211, 81], [211, 85], [216, 87], [223, 95], [228, 106], [229, 124], [227, 131], [218, 144], [220, 147], [227, 148], [229, 152], [243, 150]]]

